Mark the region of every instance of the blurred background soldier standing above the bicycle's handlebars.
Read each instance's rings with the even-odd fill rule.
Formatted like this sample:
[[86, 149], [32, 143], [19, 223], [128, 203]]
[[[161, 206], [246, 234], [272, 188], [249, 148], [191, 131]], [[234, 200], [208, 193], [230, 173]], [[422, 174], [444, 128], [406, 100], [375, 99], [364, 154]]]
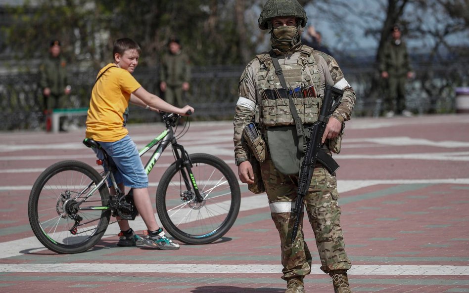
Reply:
[[162, 58], [160, 67], [160, 89], [166, 102], [182, 107], [183, 93], [189, 90], [190, 66], [189, 57], [181, 50], [178, 39], [168, 42], [169, 52]]

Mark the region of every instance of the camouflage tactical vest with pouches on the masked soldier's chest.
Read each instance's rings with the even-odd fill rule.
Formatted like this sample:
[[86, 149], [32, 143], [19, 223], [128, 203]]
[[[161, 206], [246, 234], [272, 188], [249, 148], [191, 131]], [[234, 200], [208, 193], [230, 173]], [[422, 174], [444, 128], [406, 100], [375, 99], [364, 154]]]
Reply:
[[321, 77], [313, 49], [301, 46], [296, 64], [281, 65], [288, 89], [283, 89], [275, 73], [269, 53], [257, 55], [260, 68], [257, 76], [259, 122], [264, 126], [293, 125], [288, 93], [290, 91], [298, 116], [303, 124], [318, 120], [322, 97], [319, 96]]

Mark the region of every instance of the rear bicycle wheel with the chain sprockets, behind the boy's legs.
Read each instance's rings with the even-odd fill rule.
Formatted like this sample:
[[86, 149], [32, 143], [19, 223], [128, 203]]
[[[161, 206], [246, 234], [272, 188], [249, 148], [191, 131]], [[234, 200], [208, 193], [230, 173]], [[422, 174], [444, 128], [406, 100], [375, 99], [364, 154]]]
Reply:
[[[31, 229], [38, 240], [57, 253], [79, 253], [92, 248], [104, 235], [109, 224], [110, 209], [79, 210], [83, 220], [76, 235], [70, 232], [75, 220], [70, 217], [73, 197], [92, 182], [102, 180], [90, 165], [79, 161], [62, 161], [48, 167], [38, 177], [28, 201]], [[84, 207], [107, 206], [109, 189], [104, 183], [96, 194], [80, 205]], [[75, 201], [76, 202], [76, 201]]]

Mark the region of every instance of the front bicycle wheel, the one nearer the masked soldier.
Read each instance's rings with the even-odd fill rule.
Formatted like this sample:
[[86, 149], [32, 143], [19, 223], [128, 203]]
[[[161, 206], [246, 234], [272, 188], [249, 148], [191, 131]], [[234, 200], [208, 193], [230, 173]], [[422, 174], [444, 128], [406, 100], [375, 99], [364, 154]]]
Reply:
[[241, 201], [239, 184], [233, 170], [221, 159], [201, 153], [189, 158], [204, 201], [196, 204], [193, 193], [192, 199], [183, 199], [186, 185], [181, 167], [173, 163], [158, 185], [156, 210], [161, 224], [175, 239], [186, 244], [207, 244], [221, 238], [235, 223]]

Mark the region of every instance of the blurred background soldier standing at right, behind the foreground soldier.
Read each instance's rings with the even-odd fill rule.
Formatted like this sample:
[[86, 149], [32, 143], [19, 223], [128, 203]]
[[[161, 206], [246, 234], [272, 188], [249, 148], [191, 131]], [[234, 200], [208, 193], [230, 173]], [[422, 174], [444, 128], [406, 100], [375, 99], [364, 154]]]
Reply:
[[394, 114], [412, 116], [406, 110], [406, 82], [413, 77], [406, 44], [401, 40], [398, 26], [391, 29], [392, 40], [384, 45], [382, 58], [379, 62], [381, 77], [387, 81], [385, 94], [386, 117]]

